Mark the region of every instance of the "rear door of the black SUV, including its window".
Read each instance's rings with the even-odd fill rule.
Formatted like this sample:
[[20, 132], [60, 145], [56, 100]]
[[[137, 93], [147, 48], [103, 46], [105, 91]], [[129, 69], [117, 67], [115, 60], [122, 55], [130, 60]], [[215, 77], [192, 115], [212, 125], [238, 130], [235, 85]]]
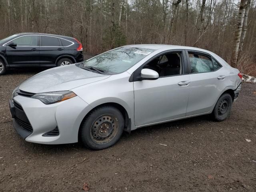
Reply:
[[40, 66], [56, 66], [56, 59], [64, 53], [58, 37], [40, 36]]

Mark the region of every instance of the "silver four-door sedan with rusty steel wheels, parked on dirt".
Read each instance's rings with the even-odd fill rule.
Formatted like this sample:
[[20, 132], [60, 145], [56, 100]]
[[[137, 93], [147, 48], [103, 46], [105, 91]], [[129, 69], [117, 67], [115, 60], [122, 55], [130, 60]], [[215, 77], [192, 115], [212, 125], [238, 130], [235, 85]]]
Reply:
[[10, 110], [28, 142], [100, 150], [123, 131], [204, 114], [225, 120], [241, 78], [207, 50], [128, 45], [36, 74], [13, 91]]

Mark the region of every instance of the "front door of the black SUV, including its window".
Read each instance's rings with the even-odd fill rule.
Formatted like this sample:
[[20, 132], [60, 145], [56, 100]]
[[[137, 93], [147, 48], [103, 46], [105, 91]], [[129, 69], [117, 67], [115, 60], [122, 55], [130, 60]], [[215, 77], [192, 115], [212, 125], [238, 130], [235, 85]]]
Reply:
[[25, 35], [6, 43], [15, 43], [16, 47], [6, 46], [6, 57], [10, 66], [39, 66], [38, 35]]

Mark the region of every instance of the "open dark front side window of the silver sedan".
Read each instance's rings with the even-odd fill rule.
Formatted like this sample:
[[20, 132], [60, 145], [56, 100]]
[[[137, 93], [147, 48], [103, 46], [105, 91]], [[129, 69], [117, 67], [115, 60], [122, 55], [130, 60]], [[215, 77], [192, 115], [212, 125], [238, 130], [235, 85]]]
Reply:
[[163, 54], [150, 61], [144, 68], [158, 72], [159, 77], [182, 74], [182, 53], [171, 52]]

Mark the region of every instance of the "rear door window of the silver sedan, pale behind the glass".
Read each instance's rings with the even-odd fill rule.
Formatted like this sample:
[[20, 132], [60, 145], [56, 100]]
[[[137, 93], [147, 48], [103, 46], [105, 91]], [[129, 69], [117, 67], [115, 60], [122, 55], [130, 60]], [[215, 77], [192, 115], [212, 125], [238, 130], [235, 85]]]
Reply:
[[212, 59], [203, 54], [198, 54], [195, 52], [188, 52], [191, 73], [204, 73], [214, 71]]

